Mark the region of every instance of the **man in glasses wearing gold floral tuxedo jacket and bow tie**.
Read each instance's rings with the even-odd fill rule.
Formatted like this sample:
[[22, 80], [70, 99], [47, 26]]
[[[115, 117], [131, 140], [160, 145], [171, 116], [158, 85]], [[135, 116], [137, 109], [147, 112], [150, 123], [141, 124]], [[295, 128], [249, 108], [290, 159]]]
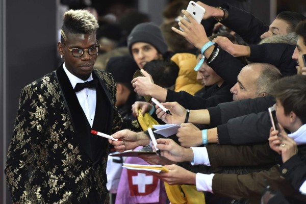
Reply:
[[110, 144], [90, 132], [139, 129], [114, 106], [113, 76], [93, 70], [97, 28], [88, 11], [67, 11], [57, 46], [65, 62], [21, 92], [5, 168], [15, 203], [109, 203]]

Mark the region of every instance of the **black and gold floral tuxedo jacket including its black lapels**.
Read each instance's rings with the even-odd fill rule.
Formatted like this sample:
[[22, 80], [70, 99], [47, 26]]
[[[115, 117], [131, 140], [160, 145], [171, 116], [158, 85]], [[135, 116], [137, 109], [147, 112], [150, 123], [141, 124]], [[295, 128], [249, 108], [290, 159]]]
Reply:
[[[98, 79], [92, 129], [112, 134], [139, 130], [114, 106], [116, 83], [108, 72]], [[19, 98], [5, 174], [15, 203], [109, 203], [106, 164], [109, 143], [91, 127], [60, 66], [25, 86]]]

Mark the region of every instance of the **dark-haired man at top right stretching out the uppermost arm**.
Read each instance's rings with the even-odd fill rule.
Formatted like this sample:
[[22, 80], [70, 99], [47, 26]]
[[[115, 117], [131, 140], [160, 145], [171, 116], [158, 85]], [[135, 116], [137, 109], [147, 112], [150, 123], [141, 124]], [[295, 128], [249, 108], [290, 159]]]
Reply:
[[294, 32], [296, 25], [306, 17], [300, 13], [284, 11], [279, 13], [269, 25], [253, 16], [251, 13], [222, 4], [220, 7], [211, 7], [197, 2], [206, 12], [203, 19], [214, 17], [226, 27], [239, 34], [248, 44], [257, 44], [261, 39], [272, 35], [284, 35]]

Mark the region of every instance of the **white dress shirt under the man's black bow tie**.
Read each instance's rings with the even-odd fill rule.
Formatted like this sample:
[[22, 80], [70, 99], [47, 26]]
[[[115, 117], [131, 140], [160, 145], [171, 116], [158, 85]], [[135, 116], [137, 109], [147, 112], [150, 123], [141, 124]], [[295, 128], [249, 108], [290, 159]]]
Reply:
[[[92, 74], [90, 74], [89, 78], [84, 81], [81, 80], [78, 77], [75, 77], [75, 75], [73, 75], [72, 73], [70, 73], [68, 71], [68, 69], [65, 66], [65, 63], [63, 64], [64, 67], [64, 71], [67, 74], [67, 77], [72, 85], [72, 88], [75, 87], [75, 85], [77, 85], [77, 83], [84, 83], [84, 82], [89, 82], [91, 80], [93, 80], [92, 78]], [[96, 90], [95, 89], [91, 89], [91, 88], [84, 88], [81, 91], [75, 92], [75, 94], [77, 94], [79, 103], [86, 115], [86, 118], [90, 124], [90, 126], [92, 127], [93, 124], [93, 119], [94, 119], [94, 114], [95, 114], [95, 108], [96, 108]]]

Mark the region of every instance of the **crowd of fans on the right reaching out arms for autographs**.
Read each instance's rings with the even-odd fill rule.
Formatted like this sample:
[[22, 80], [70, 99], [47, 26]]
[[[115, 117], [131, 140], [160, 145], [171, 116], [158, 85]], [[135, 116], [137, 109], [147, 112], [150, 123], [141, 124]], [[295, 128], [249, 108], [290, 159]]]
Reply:
[[[181, 126], [171, 139], [156, 136], [162, 137], [157, 140], [162, 159], [142, 158], [171, 170], [151, 173], [167, 183], [171, 203], [179, 203], [175, 197], [180, 195], [171, 190], [177, 186], [179, 192], [186, 194], [184, 203], [198, 202], [187, 199], [194, 191], [204, 192], [202, 203], [305, 202], [306, 140], [302, 138], [306, 136], [306, 65], [302, 55], [306, 54], [306, 17], [284, 11], [266, 25], [230, 4], [215, 8], [197, 3], [206, 9], [203, 20], [215, 18], [230, 32], [209, 37], [203, 25], [182, 11], [190, 21], [177, 17], [179, 22], [168, 19], [161, 25], [167, 52], [160, 33], [151, 30], [151, 23], [138, 24], [128, 38], [131, 55], [145, 70], [144, 77], [133, 79], [134, 91], [164, 102], [172, 114], [150, 102], [136, 101], [134, 115], [138, 116], [141, 109], [141, 114], [150, 112], [161, 123]], [[141, 37], [136, 32], [142, 32]], [[210, 42], [214, 43], [203, 49]], [[177, 74], [176, 66], [169, 61], [179, 67], [175, 81], [167, 78], [174, 89], [162, 85], [160, 80], [166, 80], [170, 67], [173, 75]], [[190, 71], [197, 63], [201, 64], [194, 78]], [[184, 78], [180, 78], [182, 75]], [[194, 79], [201, 88], [195, 90]], [[191, 86], [181, 88], [184, 83]], [[279, 122], [276, 131], [271, 129], [268, 113], [272, 106]], [[113, 142], [119, 151], [131, 148], [127, 147], [133, 143], [128, 136], [136, 137], [135, 133], [124, 131], [115, 135], [122, 139], [121, 143]], [[141, 138], [139, 133], [137, 137]], [[195, 188], [186, 188], [190, 185]]]

